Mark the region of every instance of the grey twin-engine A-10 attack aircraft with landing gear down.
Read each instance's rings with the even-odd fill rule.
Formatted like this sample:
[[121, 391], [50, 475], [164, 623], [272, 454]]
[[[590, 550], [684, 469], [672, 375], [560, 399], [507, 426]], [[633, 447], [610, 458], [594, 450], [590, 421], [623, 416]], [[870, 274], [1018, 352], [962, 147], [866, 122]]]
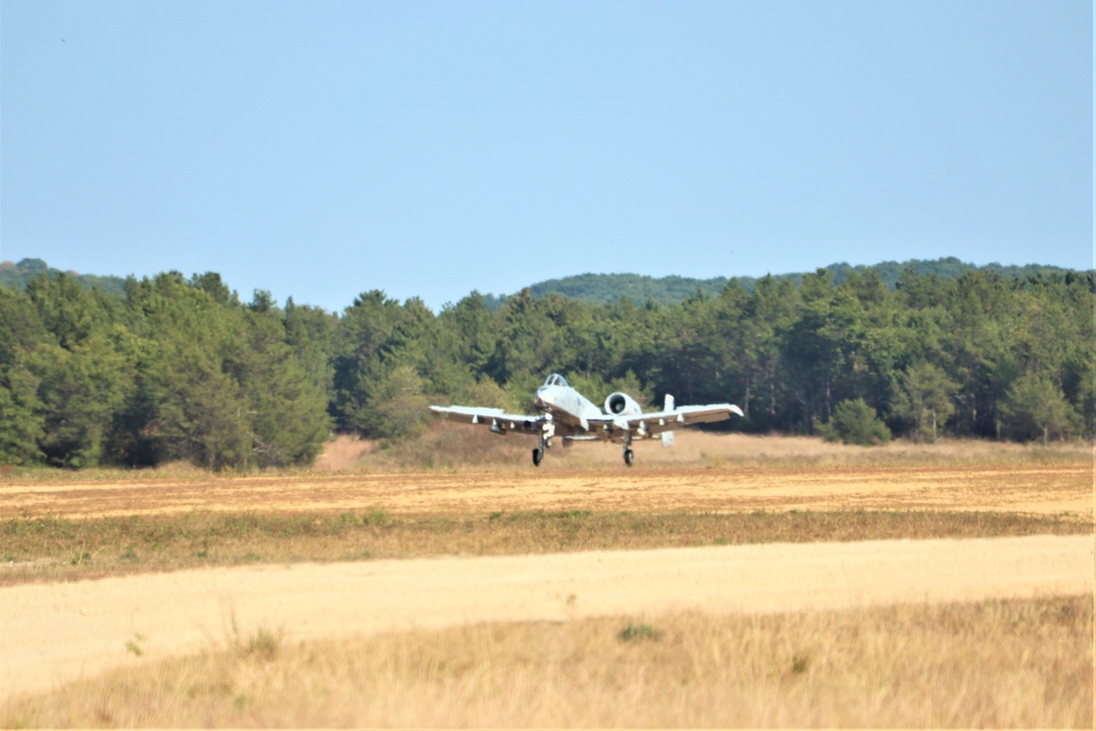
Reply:
[[610, 393], [602, 411], [555, 373], [537, 389], [536, 404], [544, 411], [536, 416], [478, 407], [431, 407], [430, 410], [453, 421], [484, 424], [494, 434], [517, 432], [539, 436], [540, 446], [533, 449], [533, 464], [538, 466], [557, 436], [564, 447], [574, 442], [619, 442], [624, 445], [624, 462], [630, 467], [635, 458], [632, 439], [661, 436], [662, 444], [669, 447], [674, 443], [673, 430], [677, 426], [722, 421], [730, 419], [732, 413], [743, 415], [742, 409], [733, 403], [674, 408], [674, 397], [669, 393], [662, 411], [643, 413], [630, 396], [620, 392]]

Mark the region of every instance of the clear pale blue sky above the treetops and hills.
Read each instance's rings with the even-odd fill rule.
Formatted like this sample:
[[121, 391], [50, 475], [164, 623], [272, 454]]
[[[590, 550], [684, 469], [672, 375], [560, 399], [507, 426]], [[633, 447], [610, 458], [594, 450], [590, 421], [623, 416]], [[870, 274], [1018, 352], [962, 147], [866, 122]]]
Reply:
[[333, 311], [1093, 266], [1093, 5], [0, 3], [0, 259]]

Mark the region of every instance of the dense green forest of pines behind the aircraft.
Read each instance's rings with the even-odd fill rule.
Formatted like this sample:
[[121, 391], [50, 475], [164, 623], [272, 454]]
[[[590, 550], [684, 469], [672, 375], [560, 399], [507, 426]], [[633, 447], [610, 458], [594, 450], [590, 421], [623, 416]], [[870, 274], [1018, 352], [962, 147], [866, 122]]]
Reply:
[[827, 433], [866, 404], [886, 435], [1092, 438], [1094, 287], [849, 267], [669, 305], [526, 289], [434, 313], [368, 292], [332, 315], [242, 302], [214, 273], [114, 294], [43, 272], [0, 287], [0, 464], [307, 465], [332, 431], [416, 433], [431, 402], [528, 410], [550, 372], [595, 401], [733, 401], [747, 416], [724, 427], [752, 432]]

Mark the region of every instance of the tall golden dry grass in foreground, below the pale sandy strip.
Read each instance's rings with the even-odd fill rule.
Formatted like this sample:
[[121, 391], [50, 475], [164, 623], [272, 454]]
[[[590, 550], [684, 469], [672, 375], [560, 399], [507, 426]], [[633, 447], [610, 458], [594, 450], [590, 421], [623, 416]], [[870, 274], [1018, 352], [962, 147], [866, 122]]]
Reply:
[[1093, 728], [1092, 597], [613, 617], [201, 656], [4, 704], [39, 727]]

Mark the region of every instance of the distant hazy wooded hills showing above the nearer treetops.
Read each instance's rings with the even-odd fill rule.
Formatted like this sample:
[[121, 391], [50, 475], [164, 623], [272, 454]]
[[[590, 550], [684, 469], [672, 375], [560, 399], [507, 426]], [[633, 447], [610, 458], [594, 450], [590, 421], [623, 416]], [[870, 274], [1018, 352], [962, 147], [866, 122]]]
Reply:
[[[920, 276], [935, 275], [940, 279], [954, 279], [962, 276], [969, 270], [984, 270], [997, 272], [1006, 278], [1036, 276], [1039, 274], [1064, 274], [1073, 270], [1061, 266], [1043, 266], [1041, 264], [1026, 264], [1024, 266], [1002, 266], [1001, 264], [986, 264], [975, 266], [960, 261], [955, 256], [947, 256], [933, 261], [911, 259], [905, 262], [882, 262], [872, 266], [852, 266], [844, 262], [830, 264], [825, 267], [833, 275], [835, 286], [841, 286], [850, 273], [864, 274], [868, 270], [875, 270], [889, 289], [894, 289], [898, 281], [902, 276], [903, 270], [912, 269]], [[0, 262], [0, 287], [15, 287], [25, 289], [26, 283], [32, 277], [46, 273], [50, 278], [60, 274], [46, 264], [41, 259], [23, 259], [19, 263]], [[103, 292], [122, 295], [125, 293], [125, 278], [118, 276], [95, 276], [92, 274], [77, 274], [66, 272], [75, 278], [77, 283], [87, 289], [99, 288]], [[806, 272], [792, 274], [774, 274], [774, 279], [790, 279], [797, 287], [802, 283]], [[756, 277], [735, 277], [746, 292], [753, 292], [757, 283]], [[697, 292], [708, 295], [718, 295], [730, 282], [730, 277], [717, 276], [710, 279], [697, 279], [685, 276], [663, 276], [652, 277], [640, 274], [576, 274], [561, 279], [547, 279], [528, 287], [534, 297], [547, 297], [550, 294], [558, 294], [568, 299], [579, 299], [593, 305], [607, 305], [619, 301], [627, 297], [636, 304], [643, 304], [648, 300], [660, 305], [675, 305], [684, 301], [687, 297]], [[489, 310], [496, 310], [506, 301], [507, 295], [484, 295], [483, 300]]]

